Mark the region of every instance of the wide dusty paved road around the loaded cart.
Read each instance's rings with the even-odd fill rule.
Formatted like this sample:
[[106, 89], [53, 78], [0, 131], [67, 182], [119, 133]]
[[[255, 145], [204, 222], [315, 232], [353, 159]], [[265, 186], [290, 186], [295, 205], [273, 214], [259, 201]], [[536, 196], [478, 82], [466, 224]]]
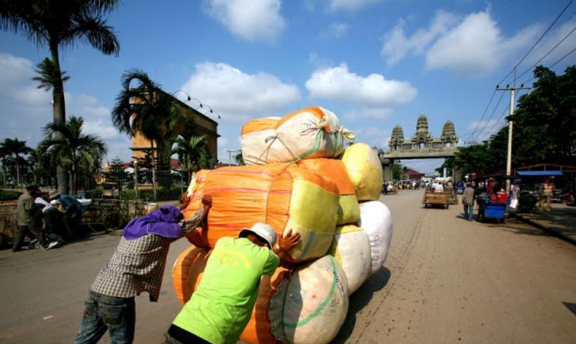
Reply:
[[[420, 199], [410, 190], [382, 197], [394, 217], [391, 251], [351, 296], [335, 343], [573, 343], [576, 246], [521, 223], [468, 223], [461, 206], [423, 209]], [[0, 251], [0, 343], [70, 343], [118, 240]], [[186, 246], [172, 245], [169, 265]], [[160, 343], [180, 309], [169, 270], [159, 303], [136, 298], [135, 343]]]

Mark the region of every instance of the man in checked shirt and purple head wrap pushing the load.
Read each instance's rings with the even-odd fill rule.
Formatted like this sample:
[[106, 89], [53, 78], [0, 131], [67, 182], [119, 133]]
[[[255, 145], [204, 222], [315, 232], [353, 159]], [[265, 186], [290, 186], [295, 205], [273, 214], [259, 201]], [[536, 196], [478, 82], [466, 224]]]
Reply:
[[166, 256], [172, 242], [199, 225], [212, 204], [209, 194], [204, 207], [183, 221], [175, 206], [163, 206], [126, 225], [114, 255], [100, 270], [84, 301], [84, 316], [74, 344], [97, 343], [106, 330], [112, 343], [132, 343], [136, 324], [134, 297], [148, 291], [157, 302]]

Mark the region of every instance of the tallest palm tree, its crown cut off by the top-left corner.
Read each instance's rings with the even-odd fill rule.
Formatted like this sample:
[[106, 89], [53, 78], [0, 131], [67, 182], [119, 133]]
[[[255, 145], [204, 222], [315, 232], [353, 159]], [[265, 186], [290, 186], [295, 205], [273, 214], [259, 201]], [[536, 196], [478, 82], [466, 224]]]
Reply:
[[[118, 4], [119, 0], [0, 0], [1, 29], [20, 33], [50, 50], [54, 124], [66, 122], [60, 47], [82, 41], [105, 55], [118, 55], [118, 39], [104, 18]], [[60, 192], [67, 192], [66, 171], [58, 168], [57, 176]]]

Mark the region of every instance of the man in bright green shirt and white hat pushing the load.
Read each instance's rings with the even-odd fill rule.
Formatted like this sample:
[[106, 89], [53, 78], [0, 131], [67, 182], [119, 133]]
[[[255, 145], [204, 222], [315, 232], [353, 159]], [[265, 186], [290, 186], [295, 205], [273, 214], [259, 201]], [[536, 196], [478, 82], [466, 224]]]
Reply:
[[210, 254], [202, 280], [174, 319], [166, 343], [236, 343], [250, 320], [260, 279], [272, 276], [288, 251], [300, 242], [292, 231], [280, 237], [270, 225], [256, 223], [237, 238], [223, 237]]

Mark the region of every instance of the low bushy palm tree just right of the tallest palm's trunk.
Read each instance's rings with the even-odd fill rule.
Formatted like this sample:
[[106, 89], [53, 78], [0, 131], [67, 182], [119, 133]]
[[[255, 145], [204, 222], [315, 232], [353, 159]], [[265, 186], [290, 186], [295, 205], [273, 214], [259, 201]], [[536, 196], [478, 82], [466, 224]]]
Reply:
[[96, 135], [82, 133], [82, 126], [84, 119], [76, 116], [70, 117], [64, 125], [48, 123], [44, 126], [44, 140], [38, 146], [54, 164], [72, 168], [73, 194], [77, 191], [78, 173], [100, 164], [107, 152], [104, 141]]

